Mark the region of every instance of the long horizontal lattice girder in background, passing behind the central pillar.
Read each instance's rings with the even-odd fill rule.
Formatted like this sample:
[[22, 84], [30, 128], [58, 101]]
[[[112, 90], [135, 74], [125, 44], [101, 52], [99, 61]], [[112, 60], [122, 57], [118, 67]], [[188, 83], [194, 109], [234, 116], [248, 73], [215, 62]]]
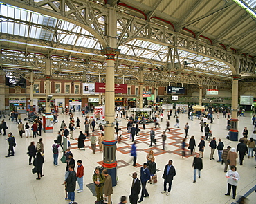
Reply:
[[[104, 75], [105, 74], [105, 63], [84, 59], [66, 59], [64, 57], [50, 56], [51, 57], [51, 75], [53, 78], [62, 79], [75, 79], [83, 80], [83, 75], [86, 73], [87, 76], [93, 75]], [[15, 52], [12, 50], [2, 50], [0, 63], [6, 70], [16, 69], [19, 71], [29, 72], [33, 70], [35, 74], [40, 76], [46, 75], [46, 57], [44, 55], [38, 55], [36, 53], [30, 53], [25, 56], [22, 52]], [[16, 67], [15, 67], [16, 66]], [[141, 68], [136, 66], [126, 66], [120, 64], [115, 67], [116, 77], [130, 77], [136, 80], [127, 81], [129, 84], [138, 84], [140, 81]], [[29, 76], [28, 76], [29, 77]], [[97, 78], [98, 79], [98, 78]], [[208, 79], [208, 80], [207, 80]], [[176, 73], [168, 73], [164, 71], [155, 71], [148, 68], [143, 69], [143, 80], [144, 82], [177, 82], [185, 84], [203, 84], [212, 86], [223, 86], [230, 88], [232, 82], [230, 80], [214, 80], [212, 78], [203, 78], [190, 75], [182, 75]], [[89, 80], [98, 82], [98, 80]]]

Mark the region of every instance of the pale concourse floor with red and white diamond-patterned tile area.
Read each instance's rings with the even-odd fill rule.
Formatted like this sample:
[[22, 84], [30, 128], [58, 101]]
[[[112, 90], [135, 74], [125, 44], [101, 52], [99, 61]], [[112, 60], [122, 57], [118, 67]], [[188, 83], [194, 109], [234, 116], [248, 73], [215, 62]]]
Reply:
[[[130, 115], [131, 113], [129, 113]], [[91, 115], [91, 113], [89, 113]], [[241, 132], [244, 127], [248, 127], [248, 138], [250, 138], [253, 132], [253, 125], [251, 120], [251, 113], [245, 113], [246, 117], [239, 117], [239, 138], [241, 138]], [[81, 114], [75, 112], [74, 118], [76, 120], [79, 116], [81, 121], [81, 130], [84, 133], [84, 118]], [[22, 115], [24, 119], [25, 115]], [[65, 201], [64, 192], [64, 173], [66, 169], [66, 164], [60, 162], [62, 154], [59, 154], [59, 164], [60, 166], [55, 167], [53, 165], [53, 153], [51, 151], [51, 145], [53, 145], [53, 140], [57, 137], [57, 131], [60, 130], [60, 124], [62, 120], [65, 120], [68, 124], [68, 115], [61, 115], [58, 117], [59, 122], [54, 125], [53, 133], [42, 133], [42, 136], [37, 136], [37, 138], [26, 138], [25, 134], [23, 138], [19, 137], [17, 130], [17, 124], [10, 122], [6, 116], [6, 123], [8, 129], [6, 136], [0, 136], [0, 203], [2, 204], [15, 204], [15, 203], [68, 203]], [[232, 199], [232, 196], [225, 196], [227, 192], [227, 178], [223, 172], [224, 166], [221, 163], [217, 163], [218, 154], [217, 151], [214, 153], [215, 160], [210, 160], [210, 147], [209, 143], [206, 143], [205, 153], [203, 156], [203, 170], [201, 171], [201, 178], [196, 178], [196, 183], [193, 183], [193, 168], [192, 160], [193, 156], [190, 156], [190, 151], [188, 150], [186, 157], [181, 158], [181, 140], [185, 137], [184, 127], [185, 123], [188, 122], [190, 129], [188, 131], [188, 138], [194, 135], [196, 139], [196, 145], [199, 143], [203, 133], [200, 131], [199, 120], [194, 119], [193, 121], [188, 120], [188, 114], [179, 114], [180, 126], [179, 128], [174, 127], [176, 124], [176, 118], [170, 118], [170, 133], [167, 131], [167, 141], [166, 149], [162, 150], [161, 133], [165, 129], [165, 121], [167, 119], [167, 113], [164, 113], [163, 122], [160, 122], [161, 129], [156, 130], [156, 147], [149, 147], [149, 129], [154, 127], [154, 124], [147, 124], [146, 130], [143, 130], [140, 124], [140, 136], [136, 136], [136, 141], [138, 141], [137, 149], [137, 167], [131, 165], [131, 155], [129, 149], [131, 147], [131, 140], [129, 139], [129, 134], [126, 132], [127, 121], [121, 119], [122, 122], [119, 123], [123, 132], [122, 142], [117, 144], [116, 159], [118, 161], [118, 183], [116, 187], [113, 187], [113, 195], [111, 196], [113, 204], [120, 203], [121, 196], [128, 196], [130, 194], [131, 188], [131, 174], [133, 172], [140, 171], [141, 165], [146, 162], [146, 156], [150, 149], [153, 149], [156, 158], [156, 167], [158, 171], [158, 183], [150, 185], [147, 183], [147, 191], [149, 192], [149, 198], [144, 198], [142, 203], [232, 203], [237, 201], [239, 195], [244, 195], [256, 185], [256, 169], [255, 169], [255, 157], [248, 158], [245, 156], [244, 165], [239, 165], [239, 158], [237, 158], [237, 172], [240, 175], [240, 180], [237, 185], [237, 198]], [[228, 130], [226, 129], [227, 118], [216, 118], [214, 114], [214, 122], [210, 124], [210, 129], [212, 129], [212, 136], [221, 138], [224, 142], [225, 147], [230, 145], [231, 147], [237, 147], [238, 142], [232, 142], [226, 139]], [[25, 122], [24, 120], [22, 120]], [[15, 147], [15, 156], [10, 158], [5, 158], [8, 153], [8, 142], [6, 138], [8, 137], [8, 132], [12, 132], [15, 136], [17, 147]], [[80, 129], [76, 129], [74, 132], [75, 138], [78, 138]], [[91, 132], [91, 131], [90, 131]], [[99, 132], [95, 133], [98, 137]], [[28, 165], [28, 155], [26, 154], [28, 145], [31, 141], [38, 142], [39, 138], [43, 138], [44, 151], [45, 151], [45, 162], [43, 165], [44, 177], [41, 180], [36, 180], [36, 174], [31, 173], [33, 165]], [[187, 140], [188, 142], [188, 140]], [[73, 153], [73, 158], [75, 162], [77, 160], [82, 160], [84, 165], [84, 191], [77, 194], [75, 192], [75, 201], [77, 203], [88, 203], [93, 204], [96, 198], [93, 196], [91, 190], [86, 186], [92, 183], [92, 175], [96, 166], [100, 165], [102, 162], [102, 153], [100, 151], [93, 154], [92, 150], [89, 148], [91, 142], [86, 140], [86, 150], [77, 149], [77, 140], [71, 140], [71, 152]], [[98, 148], [98, 145], [97, 145]], [[196, 152], [198, 152], [199, 147], [196, 147]], [[163, 169], [167, 164], [168, 160], [172, 159], [175, 169], [176, 176], [172, 181], [172, 190], [170, 196], [161, 194], [163, 190]], [[75, 167], [75, 171], [77, 165]], [[78, 184], [77, 184], [78, 187]], [[128, 201], [127, 200], [127, 201]], [[248, 196], [247, 203], [255, 203], [256, 193], [253, 192]], [[129, 201], [127, 202], [129, 203]]]

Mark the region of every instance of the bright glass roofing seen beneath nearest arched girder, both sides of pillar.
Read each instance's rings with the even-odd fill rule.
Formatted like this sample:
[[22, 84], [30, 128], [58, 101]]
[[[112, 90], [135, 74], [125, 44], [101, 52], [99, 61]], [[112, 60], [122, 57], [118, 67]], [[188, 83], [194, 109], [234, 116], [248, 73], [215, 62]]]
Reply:
[[[8, 6], [3, 3], [0, 3], [0, 15], [0, 33], [42, 39], [58, 44], [68, 44], [97, 50], [101, 49], [100, 43], [91, 33], [70, 22], [14, 6]], [[100, 19], [100, 22], [104, 22], [104, 18]], [[120, 27], [119, 23], [118, 25]], [[117, 35], [120, 35], [120, 30], [118, 32]], [[138, 39], [129, 41], [127, 44], [123, 44], [118, 48], [121, 49], [121, 53], [124, 55], [151, 59], [155, 61], [152, 63], [156, 64], [159, 64], [159, 62], [166, 63], [168, 55], [167, 46]], [[186, 67], [190, 68], [190, 70], [199, 69], [201, 71], [221, 73], [224, 75], [231, 73], [230, 68], [223, 62], [183, 50], [178, 50], [178, 53], [181, 64], [186, 64]], [[179, 62], [179, 60], [175, 59], [175, 63]], [[168, 63], [170, 62], [170, 57], [168, 57]]]

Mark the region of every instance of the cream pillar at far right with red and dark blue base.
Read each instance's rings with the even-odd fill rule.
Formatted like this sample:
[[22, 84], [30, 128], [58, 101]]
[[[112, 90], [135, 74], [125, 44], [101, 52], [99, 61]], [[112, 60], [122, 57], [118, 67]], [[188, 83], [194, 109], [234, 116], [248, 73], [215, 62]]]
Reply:
[[238, 119], [237, 119], [237, 109], [238, 109], [238, 80], [239, 75], [232, 75], [232, 109], [231, 109], [231, 119], [230, 119], [230, 132], [229, 139], [232, 141], [238, 141]]

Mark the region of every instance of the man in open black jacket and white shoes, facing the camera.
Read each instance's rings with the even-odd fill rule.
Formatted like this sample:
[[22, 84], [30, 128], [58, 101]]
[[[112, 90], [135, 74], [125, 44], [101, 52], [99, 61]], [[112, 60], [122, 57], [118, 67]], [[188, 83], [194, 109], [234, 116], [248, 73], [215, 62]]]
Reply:
[[[171, 188], [172, 188], [172, 180], [174, 179], [175, 175], [176, 175], [176, 171], [174, 166], [172, 165], [172, 160], [169, 160], [168, 164], [165, 165], [165, 171], [163, 172], [162, 178], [165, 180], [165, 182], [163, 183], [163, 192], [161, 192], [162, 194], [166, 193], [167, 196], [170, 195]], [[167, 183], [169, 183], [168, 192], [166, 192]]]

